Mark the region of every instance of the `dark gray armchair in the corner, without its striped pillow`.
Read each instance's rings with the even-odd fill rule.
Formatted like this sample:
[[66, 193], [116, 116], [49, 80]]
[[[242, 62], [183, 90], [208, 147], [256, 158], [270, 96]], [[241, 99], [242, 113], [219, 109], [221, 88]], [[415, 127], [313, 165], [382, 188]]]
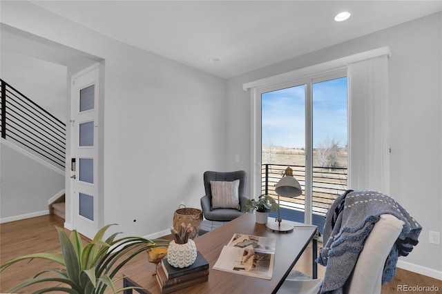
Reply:
[[[211, 181], [219, 182], [233, 182], [239, 179], [238, 199], [239, 204], [237, 208], [213, 208], [213, 196]], [[206, 195], [201, 198], [202, 214], [206, 219], [211, 221], [228, 222], [236, 217], [244, 214], [244, 206], [247, 200], [246, 192], [247, 174], [244, 170], [238, 170], [229, 173], [221, 173], [214, 171], [206, 171], [204, 173], [204, 189]]]

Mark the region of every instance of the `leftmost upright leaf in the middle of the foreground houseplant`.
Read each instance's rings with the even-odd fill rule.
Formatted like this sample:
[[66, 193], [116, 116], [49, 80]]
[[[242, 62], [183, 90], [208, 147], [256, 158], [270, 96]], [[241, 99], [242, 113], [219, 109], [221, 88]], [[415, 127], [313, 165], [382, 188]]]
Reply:
[[75, 282], [75, 284], [79, 284], [80, 263], [77, 251], [75, 251], [74, 245], [70, 242], [64, 229], [57, 228], [57, 230], [61, 244], [61, 254], [66, 263], [68, 277], [71, 281]]

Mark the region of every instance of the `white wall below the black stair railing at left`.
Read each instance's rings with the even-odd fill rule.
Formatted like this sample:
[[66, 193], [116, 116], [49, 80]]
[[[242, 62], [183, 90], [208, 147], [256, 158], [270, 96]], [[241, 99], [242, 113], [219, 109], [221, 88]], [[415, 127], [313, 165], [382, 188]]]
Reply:
[[1, 139], [0, 222], [47, 215], [48, 200], [64, 190], [64, 173]]

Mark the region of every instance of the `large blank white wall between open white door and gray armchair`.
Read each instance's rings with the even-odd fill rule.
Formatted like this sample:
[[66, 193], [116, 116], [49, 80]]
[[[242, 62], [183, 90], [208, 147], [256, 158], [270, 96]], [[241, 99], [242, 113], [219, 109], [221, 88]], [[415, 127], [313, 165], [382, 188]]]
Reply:
[[180, 202], [200, 207], [204, 170], [225, 167], [224, 79], [109, 39], [29, 2], [2, 1], [1, 22], [104, 59], [100, 143], [106, 224], [150, 235], [169, 228]]

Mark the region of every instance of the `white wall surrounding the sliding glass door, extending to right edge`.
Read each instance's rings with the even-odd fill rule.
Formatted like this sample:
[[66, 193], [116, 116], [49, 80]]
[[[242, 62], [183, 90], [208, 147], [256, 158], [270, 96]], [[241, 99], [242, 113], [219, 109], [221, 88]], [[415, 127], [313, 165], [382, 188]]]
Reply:
[[[390, 193], [423, 226], [418, 246], [400, 265], [439, 279], [442, 247], [429, 244], [428, 231], [442, 231], [441, 16], [432, 14], [227, 81], [227, 164], [249, 171], [251, 99], [242, 84], [390, 46]], [[235, 155], [242, 159], [239, 164]]]

